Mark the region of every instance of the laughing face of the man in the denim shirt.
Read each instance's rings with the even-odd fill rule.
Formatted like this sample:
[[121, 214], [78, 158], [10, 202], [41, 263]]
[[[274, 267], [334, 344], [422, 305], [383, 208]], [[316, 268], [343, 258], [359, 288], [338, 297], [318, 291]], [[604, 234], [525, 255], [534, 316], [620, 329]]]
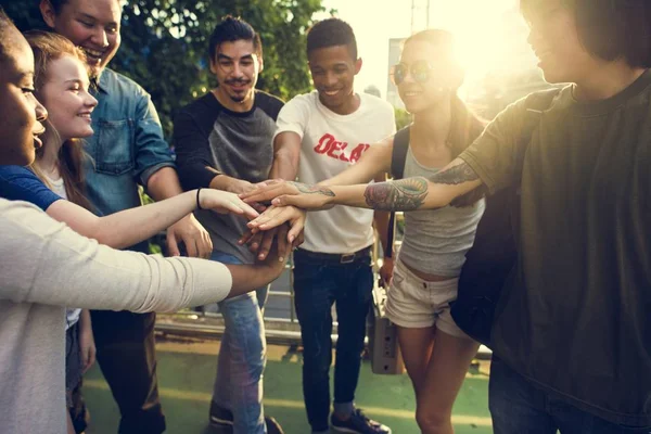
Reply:
[[41, 0], [41, 14], [58, 34], [80, 47], [87, 55], [92, 75], [111, 62], [120, 43], [119, 0], [67, 0], [55, 11], [49, 0]]

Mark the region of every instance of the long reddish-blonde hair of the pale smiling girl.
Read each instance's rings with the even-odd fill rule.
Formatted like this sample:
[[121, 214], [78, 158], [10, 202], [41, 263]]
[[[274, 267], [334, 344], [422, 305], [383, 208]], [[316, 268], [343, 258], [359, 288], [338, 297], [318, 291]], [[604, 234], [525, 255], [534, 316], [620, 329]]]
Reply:
[[[86, 54], [81, 49], [75, 47], [73, 42], [61, 35], [50, 31], [28, 31], [25, 38], [34, 51], [34, 87], [36, 97], [40, 99], [40, 91], [48, 78], [48, 67], [52, 61], [65, 55], [75, 58], [86, 65]], [[42, 101], [42, 99], [41, 99]], [[36, 151], [36, 159], [43, 156], [43, 150], [54, 140], [59, 139], [56, 128], [49, 120], [46, 123], [46, 133], [43, 136], [43, 146]], [[87, 209], [91, 208], [90, 201], [85, 195], [84, 162], [89, 156], [84, 151], [84, 143], [80, 139], [66, 140], [59, 151], [59, 173], [63, 179], [67, 199]], [[49, 181], [37, 164], [33, 164], [34, 173], [49, 186]], [[50, 186], [51, 187], [51, 186]]]

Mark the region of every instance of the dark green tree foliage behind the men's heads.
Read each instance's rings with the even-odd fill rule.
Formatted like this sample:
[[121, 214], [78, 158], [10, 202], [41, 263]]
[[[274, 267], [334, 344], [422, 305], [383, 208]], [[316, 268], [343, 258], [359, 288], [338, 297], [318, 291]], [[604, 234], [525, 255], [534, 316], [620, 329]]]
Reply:
[[[43, 28], [38, 0], [0, 0], [21, 30]], [[258, 88], [289, 100], [310, 87], [305, 33], [321, 0], [129, 0], [122, 47], [110, 67], [152, 94], [167, 133], [177, 110], [215, 85], [210, 33], [222, 16], [241, 16], [260, 34], [265, 69]]]

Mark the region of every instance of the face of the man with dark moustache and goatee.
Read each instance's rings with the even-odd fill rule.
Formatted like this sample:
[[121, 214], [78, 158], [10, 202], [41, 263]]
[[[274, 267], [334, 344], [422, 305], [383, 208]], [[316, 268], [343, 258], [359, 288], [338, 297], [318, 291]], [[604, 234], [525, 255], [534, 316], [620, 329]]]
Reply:
[[210, 61], [218, 84], [216, 91], [222, 103], [237, 111], [239, 104], [253, 101], [263, 59], [256, 54], [253, 41], [244, 39], [221, 42], [216, 51]]

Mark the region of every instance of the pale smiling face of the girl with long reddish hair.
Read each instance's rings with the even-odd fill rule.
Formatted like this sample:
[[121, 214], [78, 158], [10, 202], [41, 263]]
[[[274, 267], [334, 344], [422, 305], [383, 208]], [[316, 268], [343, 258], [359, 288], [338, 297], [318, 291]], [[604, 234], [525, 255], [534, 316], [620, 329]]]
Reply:
[[98, 101], [88, 93], [88, 73], [71, 55], [50, 61], [48, 76], [38, 91], [50, 114], [50, 123], [62, 141], [92, 136], [90, 114]]

